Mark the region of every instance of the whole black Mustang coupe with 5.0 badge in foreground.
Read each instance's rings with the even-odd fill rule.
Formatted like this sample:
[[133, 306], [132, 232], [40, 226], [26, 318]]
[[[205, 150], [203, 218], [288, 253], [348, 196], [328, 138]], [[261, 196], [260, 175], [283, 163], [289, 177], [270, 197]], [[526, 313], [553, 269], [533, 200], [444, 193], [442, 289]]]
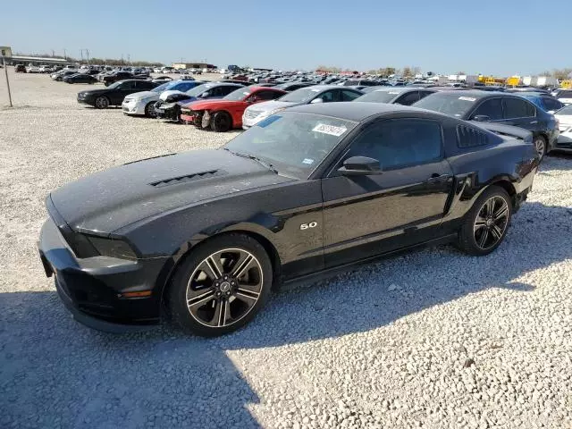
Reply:
[[220, 149], [56, 189], [39, 251], [84, 324], [123, 330], [168, 310], [213, 336], [247, 324], [273, 285], [421, 244], [492, 252], [537, 166], [531, 134], [515, 127], [401, 105], [301, 105]]

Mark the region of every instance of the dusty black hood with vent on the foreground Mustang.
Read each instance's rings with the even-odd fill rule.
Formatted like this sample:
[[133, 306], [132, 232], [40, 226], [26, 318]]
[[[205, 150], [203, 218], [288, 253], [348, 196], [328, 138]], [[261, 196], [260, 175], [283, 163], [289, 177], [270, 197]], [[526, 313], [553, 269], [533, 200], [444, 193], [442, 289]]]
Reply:
[[56, 189], [51, 198], [72, 230], [110, 233], [181, 206], [292, 180], [212, 149], [120, 165]]

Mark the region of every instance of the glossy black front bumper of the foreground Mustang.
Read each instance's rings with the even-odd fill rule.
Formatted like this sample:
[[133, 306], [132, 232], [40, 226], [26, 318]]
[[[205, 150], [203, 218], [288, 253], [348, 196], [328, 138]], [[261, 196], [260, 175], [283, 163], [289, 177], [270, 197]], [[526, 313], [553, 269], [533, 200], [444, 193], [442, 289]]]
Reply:
[[[55, 275], [58, 293], [78, 322], [105, 332], [159, 322], [161, 288], [155, 285], [166, 257], [75, 257], [51, 218], [42, 226], [38, 250], [46, 275]], [[125, 292], [142, 290], [151, 290], [151, 295], [122, 298]]]

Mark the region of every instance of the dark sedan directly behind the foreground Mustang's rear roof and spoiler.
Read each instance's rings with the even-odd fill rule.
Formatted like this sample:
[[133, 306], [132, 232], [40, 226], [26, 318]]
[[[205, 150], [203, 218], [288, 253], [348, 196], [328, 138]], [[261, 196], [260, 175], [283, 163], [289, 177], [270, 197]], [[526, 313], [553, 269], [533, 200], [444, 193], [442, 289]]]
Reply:
[[559, 135], [558, 122], [553, 114], [515, 94], [482, 90], [442, 91], [421, 99], [414, 106], [460, 119], [501, 123], [532, 131], [534, 147], [541, 159], [554, 148]]

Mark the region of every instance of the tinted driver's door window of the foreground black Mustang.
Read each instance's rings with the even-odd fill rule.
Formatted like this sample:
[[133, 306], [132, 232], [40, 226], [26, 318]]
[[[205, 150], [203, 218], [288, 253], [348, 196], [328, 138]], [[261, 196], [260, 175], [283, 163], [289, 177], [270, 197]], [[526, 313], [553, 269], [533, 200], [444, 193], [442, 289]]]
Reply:
[[377, 159], [383, 170], [425, 164], [442, 157], [442, 129], [436, 121], [392, 119], [375, 122], [352, 142], [350, 156]]

